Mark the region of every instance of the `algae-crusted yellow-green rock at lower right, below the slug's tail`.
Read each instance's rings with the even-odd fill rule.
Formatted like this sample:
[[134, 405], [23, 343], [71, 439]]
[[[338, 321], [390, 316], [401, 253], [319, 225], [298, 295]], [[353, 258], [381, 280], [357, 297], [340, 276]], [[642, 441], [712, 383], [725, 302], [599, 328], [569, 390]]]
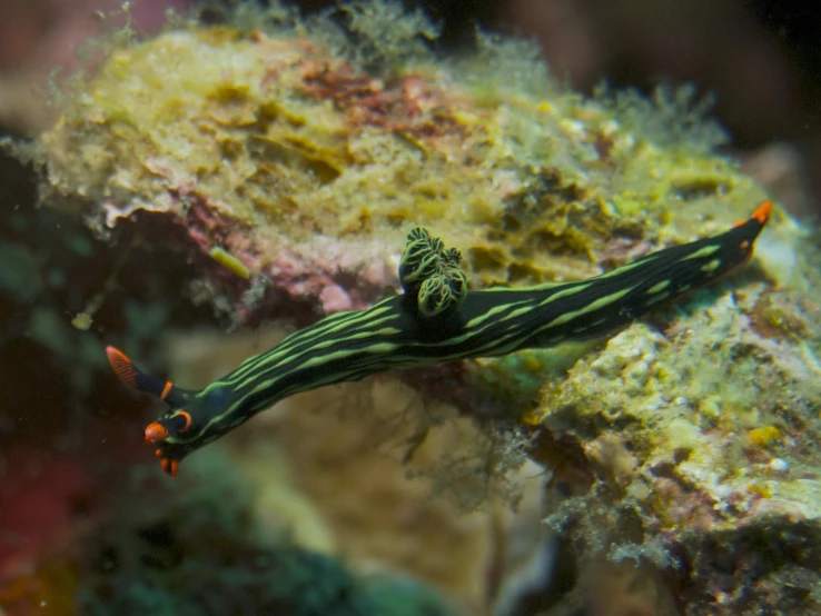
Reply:
[[712, 584], [686, 614], [809, 614], [821, 584], [819, 292], [752, 275], [735, 287], [669, 310], [662, 329], [633, 325], [545, 386], [532, 421], [572, 435], [595, 476], [550, 520], [575, 519], [592, 559], [650, 558]]

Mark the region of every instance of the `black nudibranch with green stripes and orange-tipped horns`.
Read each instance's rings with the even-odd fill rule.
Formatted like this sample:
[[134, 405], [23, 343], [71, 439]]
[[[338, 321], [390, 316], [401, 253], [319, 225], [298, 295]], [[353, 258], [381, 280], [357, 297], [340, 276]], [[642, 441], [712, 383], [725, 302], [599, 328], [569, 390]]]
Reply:
[[728, 231], [650, 254], [576, 282], [467, 289], [457, 250], [413, 229], [399, 264], [404, 292], [366, 310], [329, 315], [200, 390], [146, 375], [106, 349], [129, 386], [168, 405], [145, 430], [164, 470], [299, 391], [368, 375], [474, 357], [494, 357], [600, 337], [661, 302], [745, 264], [770, 218], [770, 201]]

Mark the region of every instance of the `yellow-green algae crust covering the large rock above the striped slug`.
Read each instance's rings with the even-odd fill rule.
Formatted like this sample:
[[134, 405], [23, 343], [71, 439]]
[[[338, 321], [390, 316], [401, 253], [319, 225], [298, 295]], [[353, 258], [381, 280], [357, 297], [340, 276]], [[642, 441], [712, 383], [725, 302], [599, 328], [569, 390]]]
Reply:
[[349, 49], [317, 19], [177, 24], [110, 50], [40, 140], [51, 196], [83, 211], [181, 210], [169, 192], [196, 191], [260, 241], [378, 237], [398, 250], [421, 223], [463, 249], [475, 285], [595, 274], [603, 256], [624, 260], [614, 237], [692, 239], [763, 198], [709, 151], [715, 135], [682, 128], [688, 90], [585, 99], [534, 47], [489, 37], [466, 60], [398, 54], [386, 13], [402, 40], [398, 24], [431, 27], [357, 6], [365, 42]]

